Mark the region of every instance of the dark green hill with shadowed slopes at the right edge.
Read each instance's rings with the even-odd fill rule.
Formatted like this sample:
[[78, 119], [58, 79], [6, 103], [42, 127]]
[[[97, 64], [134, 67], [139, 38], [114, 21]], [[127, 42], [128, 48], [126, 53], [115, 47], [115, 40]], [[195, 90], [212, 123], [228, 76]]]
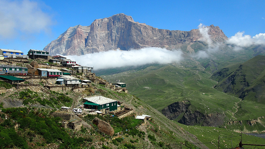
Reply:
[[[225, 68], [224, 68], [225, 69]], [[218, 71], [212, 78], [219, 80], [216, 89], [238, 96], [243, 100], [265, 103], [265, 56], [255, 56], [242, 63], [228, 76], [224, 71]]]

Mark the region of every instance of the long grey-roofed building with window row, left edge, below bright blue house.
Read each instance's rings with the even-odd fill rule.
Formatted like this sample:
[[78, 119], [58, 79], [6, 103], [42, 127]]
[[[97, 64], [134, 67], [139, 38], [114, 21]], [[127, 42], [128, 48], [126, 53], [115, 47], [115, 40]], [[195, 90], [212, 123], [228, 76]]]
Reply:
[[21, 66], [12, 66], [12, 65], [0, 65], [0, 74], [5, 73], [28, 73], [28, 68]]

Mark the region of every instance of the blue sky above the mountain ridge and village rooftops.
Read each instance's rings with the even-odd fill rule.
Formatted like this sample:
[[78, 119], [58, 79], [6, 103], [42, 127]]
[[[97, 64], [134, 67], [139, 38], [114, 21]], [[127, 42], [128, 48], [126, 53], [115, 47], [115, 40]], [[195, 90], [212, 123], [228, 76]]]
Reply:
[[190, 31], [200, 23], [219, 26], [226, 36], [265, 33], [265, 1], [41, 1], [0, 0], [0, 48], [42, 50], [75, 25], [124, 13], [134, 21]]

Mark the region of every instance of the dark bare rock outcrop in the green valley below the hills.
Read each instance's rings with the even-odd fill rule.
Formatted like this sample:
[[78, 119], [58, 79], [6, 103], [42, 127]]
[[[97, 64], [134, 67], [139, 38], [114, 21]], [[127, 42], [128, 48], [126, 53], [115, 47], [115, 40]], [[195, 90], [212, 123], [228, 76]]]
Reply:
[[170, 120], [177, 120], [184, 125], [201, 125], [201, 126], [221, 126], [225, 115], [220, 113], [201, 113], [200, 111], [191, 111], [190, 101], [178, 101], [170, 104], [162, 110]]

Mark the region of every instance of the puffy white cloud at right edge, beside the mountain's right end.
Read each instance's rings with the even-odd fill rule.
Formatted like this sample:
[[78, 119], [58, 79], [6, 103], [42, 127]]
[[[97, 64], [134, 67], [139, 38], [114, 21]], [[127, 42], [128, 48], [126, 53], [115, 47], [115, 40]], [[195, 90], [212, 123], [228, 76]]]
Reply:
[[[238, 47], [248, 47], [251, 45], [261, 45], [265, 44], [265, 33], [257, 34], [254, 37], [251, 37], [250, 35], [243, 35], [243, 32], [238, 32], [235, 34], [235, 36], [230, 37], [226, 43], [231, 44], [233, 46]], [[239, 49], [239, 48], [237, 48]]]

